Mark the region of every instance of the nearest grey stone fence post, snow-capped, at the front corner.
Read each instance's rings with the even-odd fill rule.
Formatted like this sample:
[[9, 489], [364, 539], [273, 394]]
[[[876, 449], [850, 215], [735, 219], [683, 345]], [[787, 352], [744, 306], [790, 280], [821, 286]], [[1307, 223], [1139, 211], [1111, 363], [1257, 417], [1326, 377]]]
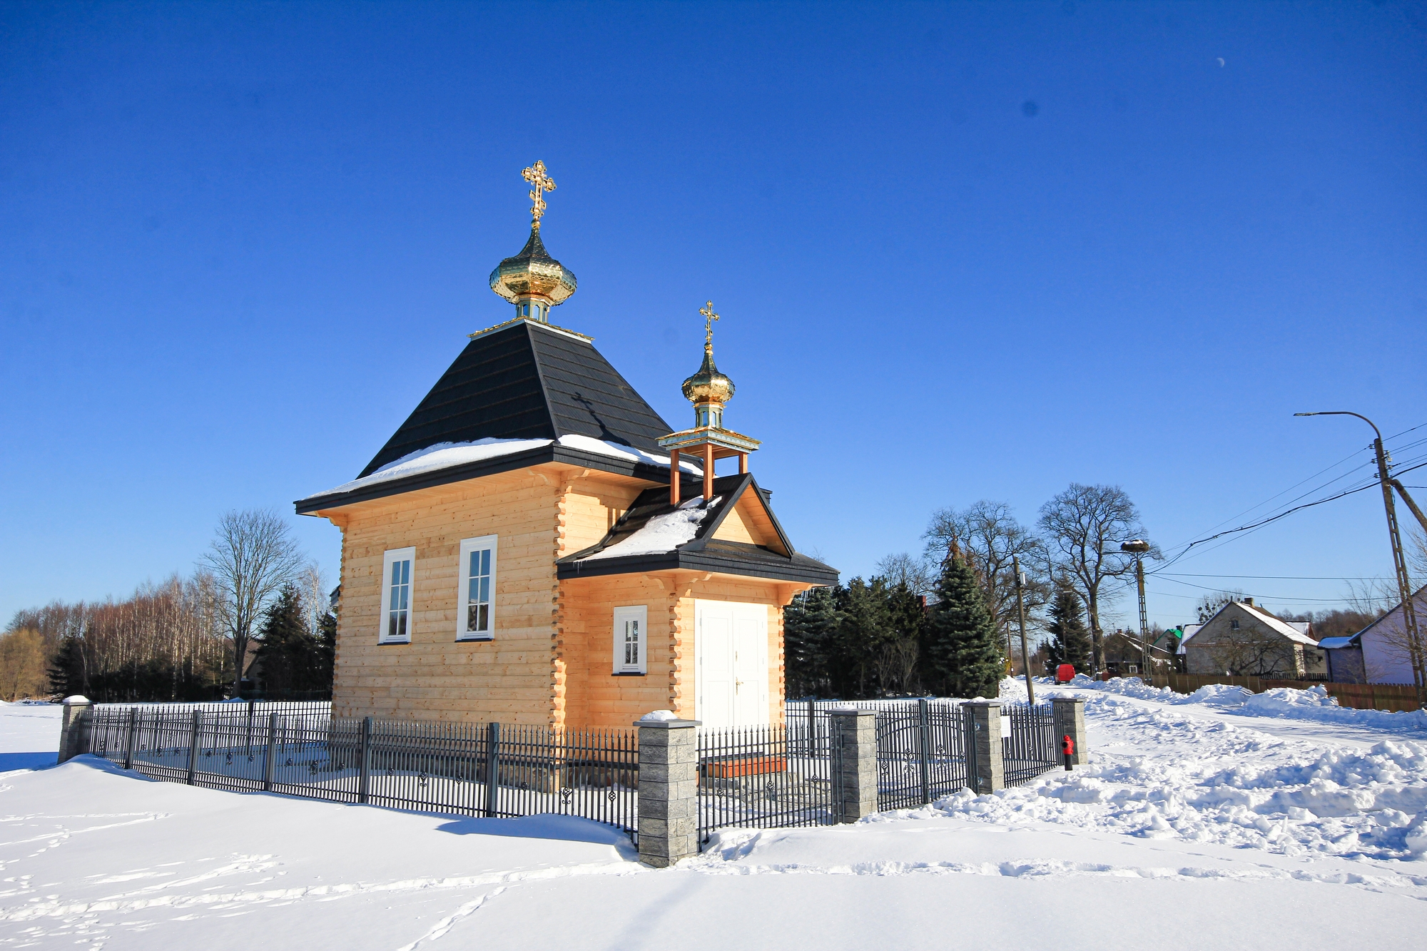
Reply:
[[639, 728], [639, 861], [665, 868], [699, 851], [699, 721], [634, 725]]

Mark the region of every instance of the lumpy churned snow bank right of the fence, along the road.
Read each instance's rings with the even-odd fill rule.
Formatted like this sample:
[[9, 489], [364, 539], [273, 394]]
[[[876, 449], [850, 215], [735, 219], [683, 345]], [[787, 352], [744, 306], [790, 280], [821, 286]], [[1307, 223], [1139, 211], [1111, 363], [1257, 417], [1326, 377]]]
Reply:
[[[1019, 683], [1015, 688], [1023, 690]], [[1374, 713], [1329, 705], [1321, 690], [1289, 691], [1307, 695], [1290, 698], [1234, 693], [1240, 690], [1203, 688], [1184, 697], [1139, 680], [1112, 680], [1086, 703], [1086, 767], [1047, 773], [995, 795], [963, 790], [926, 810], [885, 815], [1057, 822], [1289, 855], [1413, 860], [1427, 851], [1427, 744], [1391, 738], [1367, 750], [1324, 748], [1193, 715], [1196, 705], [1244, 717]], [[1249, 698], [1259, 701], [1254, 710], [1243, 710]]]

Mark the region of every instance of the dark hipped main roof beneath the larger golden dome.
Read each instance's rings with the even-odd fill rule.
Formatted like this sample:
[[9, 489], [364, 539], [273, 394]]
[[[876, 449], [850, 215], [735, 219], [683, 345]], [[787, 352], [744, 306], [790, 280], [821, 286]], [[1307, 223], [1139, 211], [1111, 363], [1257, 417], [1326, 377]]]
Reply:
[[588, 340], [521, 321], [468, 343], [358, 478], [437, 443], [578, 434], [666, 454], [671, 431]]

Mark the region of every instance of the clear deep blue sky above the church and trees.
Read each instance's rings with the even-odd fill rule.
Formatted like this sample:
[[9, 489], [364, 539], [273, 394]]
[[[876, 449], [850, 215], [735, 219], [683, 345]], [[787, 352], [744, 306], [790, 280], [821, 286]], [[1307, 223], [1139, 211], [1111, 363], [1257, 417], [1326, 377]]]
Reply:
[[[535, 158], [554, 321], [682, 424], [712, 298], [726, 421], [845, 578], [1070, 481], [1232, 527], [1367, 461], [1294, 411], [1427, 423], [1424, 100], [1421, 3], [6, 4], [0, 620], [354, 477], [509, 316]], [[1330, 607], [1390, 577], [1381, 497], [1170, 571], [1164, 624]]]

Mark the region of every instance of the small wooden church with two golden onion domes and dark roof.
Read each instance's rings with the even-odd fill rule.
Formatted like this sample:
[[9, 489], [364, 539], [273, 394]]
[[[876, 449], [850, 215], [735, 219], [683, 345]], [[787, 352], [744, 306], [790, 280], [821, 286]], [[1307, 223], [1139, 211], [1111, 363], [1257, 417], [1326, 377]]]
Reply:
[[357, 480], [295, 503], [342, 533], [334, 713], [778, 721], [782, 608], [838, 573], [793, 550], [748, 471], [758, 441], [723, 428], [712, 304], [676, 433], [591, 337], [549, 323], [575, 276], [541, 241], [554, 181], [524, 174], [531, 236], [491, 273], [515, 317], [471, 334]]

